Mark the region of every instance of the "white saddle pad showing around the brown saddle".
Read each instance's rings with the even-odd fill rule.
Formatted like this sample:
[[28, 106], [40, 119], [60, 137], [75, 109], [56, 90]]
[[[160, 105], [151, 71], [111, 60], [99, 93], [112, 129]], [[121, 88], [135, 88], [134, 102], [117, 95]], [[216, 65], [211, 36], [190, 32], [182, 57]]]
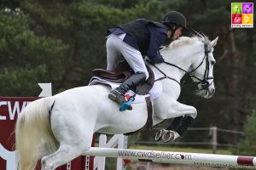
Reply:
[[[121, 85], [121, 83], [108, 82], [106, 80], [103, 80], [100, 77], [91, 77], [88, 85], [91, 86], [96, 84], [107, 84], [108, 86], [111, 87], [111, 90], [113, 90], [114, 88], [118, 88], [119, 85]], [[156, 99], [160, 96], [161, 92], [162, 92], [161, 82], [160, 81], [154, 82], [154, 86], [149, 91], [149, 94], [146, 94], [146, 95], [137, 94], [135, 97], [135, 100], [132, 103], [144, 103], [146, 102], [145, 98], [148, 96], [150, 96], [150, 99]], [[129, 94], [130, 96], [132, 96], [134, 95], [134, 92], [129, 90], [126, 94]]]

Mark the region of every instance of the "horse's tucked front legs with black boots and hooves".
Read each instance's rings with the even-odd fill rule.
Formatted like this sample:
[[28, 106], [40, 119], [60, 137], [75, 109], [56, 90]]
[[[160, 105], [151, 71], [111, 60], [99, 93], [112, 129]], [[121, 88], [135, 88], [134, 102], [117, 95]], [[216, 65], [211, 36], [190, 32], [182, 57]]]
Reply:
[[176, 100], [172, 100], [171, 106], [161, 114], [161, 119], [169, 119], [175, 117], [172, 124], [166, 129], [161, 129], [155, 135], [155, 140], [162, 139], [164, 142], [174, 141], [182, 136], [186, 129], [190, 126], [197, 115], [195, 107], [183, 105]]

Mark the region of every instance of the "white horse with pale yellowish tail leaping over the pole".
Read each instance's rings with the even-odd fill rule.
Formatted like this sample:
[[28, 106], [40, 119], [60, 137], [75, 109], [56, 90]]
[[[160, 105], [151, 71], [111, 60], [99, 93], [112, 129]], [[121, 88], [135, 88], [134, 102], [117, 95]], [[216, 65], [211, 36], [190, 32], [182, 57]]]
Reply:
[[[180, 37], [160, 50], [166, 63], [156, 66], [166, 78], [160, 80], [162, 93], [153, 100], [154, 125], [172, 117], [197, 115], [195, 107], [177, 102], [181, 90], [177, 82], [186, 72], [198, 82], [201, 96], [212, 97], [212, 52], [217, 41], [218, 37], [210, 42], [203, 35]], [[150, 67], [165, 77], [153, 65]], [[89, 150], [93, 133], [130, 133], [143, 127], [147, 122], [146, 104], [132, 104], [131, 111], [120, 112], [119, 105], [108, 99], [109, 90], [104, 85], [73, 88], [27, 105], [15, 129], [19, 168], [32, 170], [41, 159], [43, 170], [53, 170]]]

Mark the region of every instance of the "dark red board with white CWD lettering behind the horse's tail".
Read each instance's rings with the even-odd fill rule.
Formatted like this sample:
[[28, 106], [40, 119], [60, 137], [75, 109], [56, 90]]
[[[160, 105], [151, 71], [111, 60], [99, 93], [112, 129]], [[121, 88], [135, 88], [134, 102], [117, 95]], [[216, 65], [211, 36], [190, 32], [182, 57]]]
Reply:
[[0, 97], [0, 169], [14, 170], [15, 161], [15, 121], [26, 105], [38, 97]]

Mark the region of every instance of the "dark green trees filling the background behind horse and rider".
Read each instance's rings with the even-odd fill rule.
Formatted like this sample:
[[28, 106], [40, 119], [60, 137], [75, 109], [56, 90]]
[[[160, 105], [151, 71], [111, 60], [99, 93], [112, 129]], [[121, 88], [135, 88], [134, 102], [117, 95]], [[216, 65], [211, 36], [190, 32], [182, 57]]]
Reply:
[[[106, 67], [108, 28], [137, 18], [161, 20], [177, 10], [187, 17], [190, 31], [203, 32], [210, 39], [219, 37], [214, 51], [216, 95], [207, 100], [196, 97], [191, 93], [195, 86], [188, 80], [179, 101], [197, 108], [195, 127], [241, 130], [255, 108], [256, 34], [255, 29], [230, 28], [230, 5], [235, 2], [241, 1], [3, 0], [0, 95], [37, 96], [38, 82], [52, 82], [54, 94], [84, 86], [92, 69]], [[193, 140], [192, 134], [185, 138]], [[232, 143], [239, 139], [219, 140]]]

